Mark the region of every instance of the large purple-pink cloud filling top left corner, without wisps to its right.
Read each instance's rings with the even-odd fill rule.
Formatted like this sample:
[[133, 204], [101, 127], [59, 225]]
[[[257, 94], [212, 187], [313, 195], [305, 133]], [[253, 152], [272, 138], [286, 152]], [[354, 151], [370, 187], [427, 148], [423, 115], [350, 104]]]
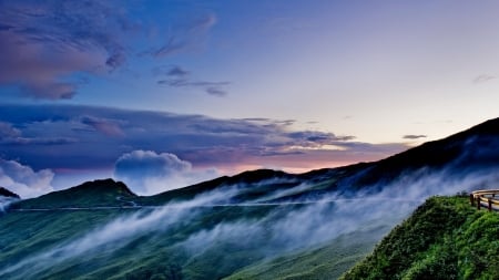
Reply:
[[128, 21], [101, 1], [0, 2], [0, 84], [45, 100], [71, 98], [75, 73], [98, 74], [123, 64]]

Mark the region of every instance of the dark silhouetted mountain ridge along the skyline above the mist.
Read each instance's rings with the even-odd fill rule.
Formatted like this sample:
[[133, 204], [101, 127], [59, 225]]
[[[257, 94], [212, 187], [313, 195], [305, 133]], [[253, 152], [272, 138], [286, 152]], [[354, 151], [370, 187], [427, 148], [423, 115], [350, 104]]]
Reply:
[[[99, 179], [94, 182], [86, 182], [79, 186], [71, 187], [69, 189], [53, 191], [39, 198], [43, 203], [34, 203], [35, 199], [28, 199], [18, 203], [18, 207], [30, 207], [33, 208], [34, 205], [43, 205], [48, 201], [48, 198], [53, 197], [51, 194], [57, 193], [55, 197], [65, 197], [67, 199], [77, 199], [78, 195], [71, 195], [75, 190], [90, 190], [92, 187], [103, 188], [105, 186], [115, 185], [118, 193], [123, 193], [123, 198], [133, 198], [139, 204], [143, 205], [162, 205], [173, 200], [189, 200], [197, 195], [205, 194], [207, 191], [214, 191], [224, 186], [232, 185], [252, 185], [258, 182], [265, 180], [282, 180], [281, 185], [273, 184], [273, 188], [291, 188], [296, 187], [293, 182], [317, 182], [320, 178], [327, 180], [329, 177], [335, 177], [334, 180], [325, 183], [320, 188], [314, 188], [303, 191], [297, 191], [291, 194], [286, 197], [281, 197], [273, 201], [292, 201], [296, 199], [310, 200], [320, 199], [324, 195], [327, 195], [332, 190], [344, 190], [357, 191], [360, 188], [367, 188], [369, 186], [383, 185], [387, 180], [393, 180], [401, 176], [405, 172], [416, 170], [418, 168], [434, 168], [441, 169], [448, 168], [449, 163], [455, 164], [452, 168], [458, 168], [466, 164], [467, 168], [480, 168], [483, 162], [491, 162], [493, 164], [499, 163], [499, 153], [496, 151], [495, 145], [499, 143], [499, 117], [493, 120], [488, 120], [481, 124], [472, 126], [466, 131], [452, 134], [448, 137], [438, 141], [431, 141], [424, 143], [419, 146], [409, 148], [405, 152], [398, 153], [396, 155], [389, 156], [387, 158], [369, 162], [369, 163], [357, 163], [347, 166], [336, 167], [336, 168], [322, 168], [316, 170], [310, 170], [303, 174], [288, 174], [282, 170], [272, 169], [256, 169], [247, 170], [234, 176], [222, 176], [214, 178], [212, 180], [202, 182], [195, 185], [186, 186], [183, 188], [177, 188], [173, 190], [166, 190], [152, 196], [136, 196], [130, 188], [121, 183], [114, 182], [113, 179]], [[487, 153], [476, 153], [479, 154], [467, 156], [465, 153], [467, 149], [485, 149]], [[487, 151], [488, 149], [488, 151]], [[465, 155], [465, 156], [464, 156]], [[461, 158], [459, 158], [461, 157]], [[254, 186], [253, 186], [254, 187]], [[269, 188], [263, 188], [259, 193], [269, 191]], [[378, 191], [375, 187], [371, 191]], [[258, 191], [255, 189], [252, 197], [257, 197]], [[95, 195], [96, 196], [96, 195]], [[121, 196], [121, 195], [116, 195]], [[245, 197], [236, 197], [233, 203], [244, 203]], [[81, 199], [80, 199], [81, 200]], [[108, 194], [108, 201], [103, 199], [100, 200], [99, 205], [109, 206], [126, 206], [130, 205], [126, 201], [116, 200]], [[74, 206], [70, 203], [59, 204], [59, 206]], [[88, 205], [88, 204], [84, 204]], [[16, 207], [16, 206], [14, 206]]]

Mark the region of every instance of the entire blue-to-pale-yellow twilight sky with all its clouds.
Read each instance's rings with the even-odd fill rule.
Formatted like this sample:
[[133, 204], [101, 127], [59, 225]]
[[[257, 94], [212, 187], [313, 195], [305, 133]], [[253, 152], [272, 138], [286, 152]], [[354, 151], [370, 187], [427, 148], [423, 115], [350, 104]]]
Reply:
[[498, 1], [0, 0], [0, 186], [151, 195], [498, 117]]

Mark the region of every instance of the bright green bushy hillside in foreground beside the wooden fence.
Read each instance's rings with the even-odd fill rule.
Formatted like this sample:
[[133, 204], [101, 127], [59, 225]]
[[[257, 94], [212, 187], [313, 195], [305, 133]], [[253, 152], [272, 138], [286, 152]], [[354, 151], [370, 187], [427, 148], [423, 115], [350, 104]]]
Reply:
[[498, 237], [498, 212], [432, 197], [342, 279], [499, 279]]

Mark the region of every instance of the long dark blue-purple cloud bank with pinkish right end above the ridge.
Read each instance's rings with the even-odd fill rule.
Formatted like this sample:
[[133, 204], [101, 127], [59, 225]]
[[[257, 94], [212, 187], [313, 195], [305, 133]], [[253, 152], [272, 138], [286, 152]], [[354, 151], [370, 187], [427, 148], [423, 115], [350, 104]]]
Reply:
[[0, 105], [0, 134], [9, 139], [0, 142], [2, 155], [38, 169], [112, 168], [116, 158], [133, 151], [171, 153], [193, 166], [211, 167], [265, 165], [271, 158], [296, 165], [319, 158], [327, 166], [383, 158], [406, 148], [293, 131], [289, 120], [217, 120], [75, 105]]

